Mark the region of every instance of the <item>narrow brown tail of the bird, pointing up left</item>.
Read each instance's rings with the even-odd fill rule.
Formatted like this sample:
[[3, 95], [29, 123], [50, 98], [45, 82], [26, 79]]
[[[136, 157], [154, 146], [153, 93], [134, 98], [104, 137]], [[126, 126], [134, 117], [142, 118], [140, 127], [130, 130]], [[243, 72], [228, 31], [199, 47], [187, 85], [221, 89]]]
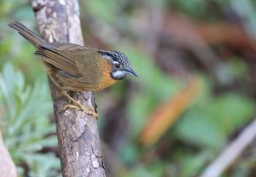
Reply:
[[44, 41], [40, 37], [38, 37], [38, 35], [36, 35], [33, 31], [31, 31], [18, 21], [10, 23], [9, 26], [18, 31], [22, 37], [25, 37], [26, 40], [29, 43], [32, 43], [36, 48], [38, 48], [41, 43], [44, 43]]

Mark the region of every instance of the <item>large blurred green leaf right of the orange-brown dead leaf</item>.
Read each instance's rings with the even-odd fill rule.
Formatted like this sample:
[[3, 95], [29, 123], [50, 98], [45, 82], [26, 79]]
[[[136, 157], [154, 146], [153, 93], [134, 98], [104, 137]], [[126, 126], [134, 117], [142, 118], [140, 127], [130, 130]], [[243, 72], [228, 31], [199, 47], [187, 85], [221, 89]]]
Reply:
[[201, 100], [177, 123], [175, 134], [195, 146], [220, 148], [233, 131], [253, 117], [253, 108], [253, 100], [238, 94]]

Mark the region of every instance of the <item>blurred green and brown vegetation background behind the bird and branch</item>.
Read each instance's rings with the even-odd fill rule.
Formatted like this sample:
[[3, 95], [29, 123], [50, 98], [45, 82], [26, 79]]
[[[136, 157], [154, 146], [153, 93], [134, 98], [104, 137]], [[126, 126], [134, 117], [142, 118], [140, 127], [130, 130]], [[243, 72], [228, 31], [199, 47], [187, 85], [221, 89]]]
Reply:
[[[96, 93], [108, 176], [198, 176], [255, 117], [253, 0], [80, 1], [84, 43], [125, 53], [139, 77]], [[20, 176], [61, 176], [44, 67], [0, 2], [0, 125]], [[75, 32], [75, 31], [74, 31]], [[256, 143], [224, 177], [256, 176]]]

